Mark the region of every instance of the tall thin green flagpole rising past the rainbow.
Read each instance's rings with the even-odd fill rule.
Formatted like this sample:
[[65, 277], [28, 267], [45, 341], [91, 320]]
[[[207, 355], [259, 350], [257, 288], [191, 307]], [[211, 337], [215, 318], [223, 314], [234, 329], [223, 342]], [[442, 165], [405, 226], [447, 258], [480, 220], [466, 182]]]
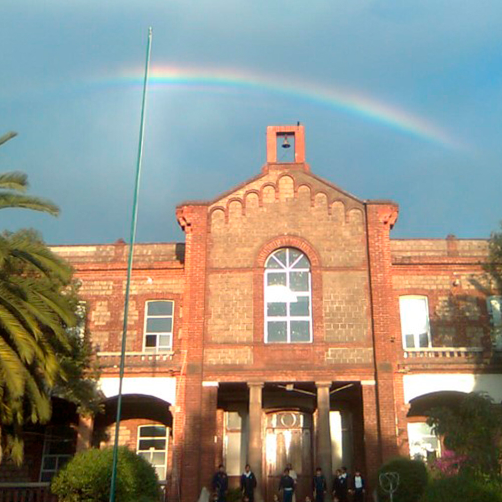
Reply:
[[115, 484], [117, 478], [117, 460], [118, 460], [118, 429], [120, 426], [120, 414], [122, 411], [122, 380], [124, 376], [124, 359], [126, 358], [126, 336], [127, 336], [127, 320], [129, 313], [129, 292], [131, 289], [131, 273], [133, 270], [133, 255], [134, 242], [136, 240], [136, 222], [138, 220], [138, 193], [140, 191], [140, 175], [141, 161], [143, 159], [143, 138], [145, 136], [145, 104], [147, 101], [147, 83], [148, 70], [150, 67], [150, 46], [152, 44], [152, 28], [148, 29], [148, 44], [147, 44], [147, 62], [145, 65], [145, 80], [143, 81], [143, 101], [141, 105], [141, 126], [140, 126], [140, 144], [138, 146], [138, 163], [136, 166], [136, 183], [133, 199], [133, 217], [131, 221], [131, 243], [129, 246], [129, 260], [127, 267], [127, 282], [126, 282], [126, 297], [124, 299], [124, 320], [122, 326], [122, 347], [120, 350], [120, 370], [118, 378], [118, 399], [117, 399], [117, 416], [115, 419], [115, 441], [113, 443], [113, 463], [111, 467], [111, 482], [110, 482], [110, 502], [115, 502]]

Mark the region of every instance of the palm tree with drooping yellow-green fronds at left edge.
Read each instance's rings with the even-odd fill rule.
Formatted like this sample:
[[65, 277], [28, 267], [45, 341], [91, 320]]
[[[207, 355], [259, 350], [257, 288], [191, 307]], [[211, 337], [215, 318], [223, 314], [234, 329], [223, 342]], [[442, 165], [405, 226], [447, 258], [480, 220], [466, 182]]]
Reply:
[[[0, 145], [16, 133], [0, 137]], [[25, 195], [27, 176], [0, 174], [0, 209], [21, 207], [57, 215], [52, 202]], [[51, 415], [50, 390], [62, 375], [61, 355], [71, 352], [75, 326], [71, 268], [33, 230], [0, 234], [0, 462], [7, 449], [20, 462], [26, 421]]]

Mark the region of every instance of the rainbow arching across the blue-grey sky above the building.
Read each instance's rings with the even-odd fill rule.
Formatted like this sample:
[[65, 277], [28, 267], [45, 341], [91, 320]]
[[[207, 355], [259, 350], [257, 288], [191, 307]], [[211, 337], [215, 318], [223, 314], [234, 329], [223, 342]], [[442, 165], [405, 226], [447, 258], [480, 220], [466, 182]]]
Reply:
[[[142, 70], [124, 70], [119, 78], [141, 84]], [[350, 90], [323, 87], [312, 82], [248, 74], [237, 70], [214, 70], [155, 66], [150, 71], [149, 85], [169, 86], [204, 91], [251, 90], [280, 94], [315, 105], [356, 114], [367, 120], [407, 133], [447, 148], [461, 145], [442, 129], [417, 115]]]

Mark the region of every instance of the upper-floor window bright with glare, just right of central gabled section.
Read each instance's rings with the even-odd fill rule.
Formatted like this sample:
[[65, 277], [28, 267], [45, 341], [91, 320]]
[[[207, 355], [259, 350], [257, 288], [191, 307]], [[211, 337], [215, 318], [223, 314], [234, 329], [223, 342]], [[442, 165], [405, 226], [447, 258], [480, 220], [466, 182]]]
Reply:
[[429, 303], [426, 296], [399, 298], [404, 348], [430, 347]]

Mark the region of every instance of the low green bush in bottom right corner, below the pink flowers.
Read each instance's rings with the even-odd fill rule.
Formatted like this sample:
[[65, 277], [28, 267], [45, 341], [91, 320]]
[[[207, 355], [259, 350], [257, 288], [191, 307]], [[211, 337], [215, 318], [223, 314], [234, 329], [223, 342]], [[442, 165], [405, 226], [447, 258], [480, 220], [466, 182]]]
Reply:
[[502, 502], [501, 486], [467, 476], [451, 476], [432, 481], [421, 502]]

